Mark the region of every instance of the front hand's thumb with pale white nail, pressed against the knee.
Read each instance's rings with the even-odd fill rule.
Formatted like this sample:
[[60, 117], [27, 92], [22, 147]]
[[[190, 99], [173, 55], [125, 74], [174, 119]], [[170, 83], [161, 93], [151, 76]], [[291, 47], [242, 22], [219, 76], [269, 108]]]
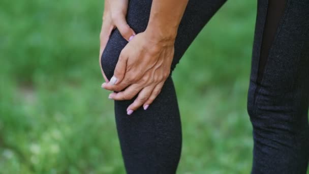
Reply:
[[[125, 50], [125, 49], [123, 49]], [[117, 84], [119, 83], [123, 77], [125, 76], [126, 69], [127, 69], [127, 62], [128, 62], [128, 56], [124, 53], [125, 51], [121, 51], [119, 55], [118, 62], [116, 64], [114, 75], [110, 79], [111, 84]]]

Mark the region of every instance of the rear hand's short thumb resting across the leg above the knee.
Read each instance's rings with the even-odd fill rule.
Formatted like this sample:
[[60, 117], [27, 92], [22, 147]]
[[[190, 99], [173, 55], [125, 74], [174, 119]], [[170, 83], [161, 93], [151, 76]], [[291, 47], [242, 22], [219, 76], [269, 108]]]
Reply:
[[114, 24], [116, 25], [122, 37], [127, 41], [130, 41], [136, 35], [133, 29], [127, 23], [124, 15], [119, 15], [118, 19], [114, 20]]

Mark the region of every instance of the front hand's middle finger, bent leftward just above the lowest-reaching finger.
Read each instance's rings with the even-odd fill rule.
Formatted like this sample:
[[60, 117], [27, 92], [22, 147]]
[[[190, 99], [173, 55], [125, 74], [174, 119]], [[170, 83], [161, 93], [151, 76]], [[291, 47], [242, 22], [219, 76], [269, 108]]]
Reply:
[[118, 92], [118, 93], [111, 93], [108, 98], [114, 100], [131, 100], [141, 91], [141, 86], [137, 83], [130, 85], [126, 90]]

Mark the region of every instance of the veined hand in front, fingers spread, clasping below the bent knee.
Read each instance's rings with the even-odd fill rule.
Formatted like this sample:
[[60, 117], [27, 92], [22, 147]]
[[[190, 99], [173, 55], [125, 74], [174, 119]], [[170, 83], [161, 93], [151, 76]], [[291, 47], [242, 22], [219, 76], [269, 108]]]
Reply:
[[[122, 49], [110, 82], [102, 84], [104, 89], [118, 92], [111, 93], [109, 98], [130, 100], [139, 93], [127, 108], [127, 113], [131, 114], [141, 105], [147, 109], [161, 92], [170, 74], [174, 41], [174, 37], [153, 36], [153, 32], [148, 32], [147, 29], [137, 34]], [[125, 90], [122, 91], [123, 89]]]

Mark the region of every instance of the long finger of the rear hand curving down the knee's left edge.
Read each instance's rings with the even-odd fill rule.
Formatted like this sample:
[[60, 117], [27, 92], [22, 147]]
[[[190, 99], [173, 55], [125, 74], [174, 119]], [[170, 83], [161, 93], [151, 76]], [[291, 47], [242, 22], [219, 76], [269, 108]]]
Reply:
[[105, 79], [106, 82], [109, 82], [108, 78], [106, 77], [103, 68], [102, 68], [102, 64], [101, 64], [101, 60], [102, 60], [102, 53], [105, 49], [105, 46], [108, 42], [108, 39], [110, 37], [111, 31], [113, 30], [114, 25], [111, 24], [110, 21], [103, 21], [102, 23], [102, 28], [101, 28], [101, 33], [100, 33], [100, 53], [99, 53], [99, 65], [101, 68], [101, 72], [103, 74], [103, 77]]

